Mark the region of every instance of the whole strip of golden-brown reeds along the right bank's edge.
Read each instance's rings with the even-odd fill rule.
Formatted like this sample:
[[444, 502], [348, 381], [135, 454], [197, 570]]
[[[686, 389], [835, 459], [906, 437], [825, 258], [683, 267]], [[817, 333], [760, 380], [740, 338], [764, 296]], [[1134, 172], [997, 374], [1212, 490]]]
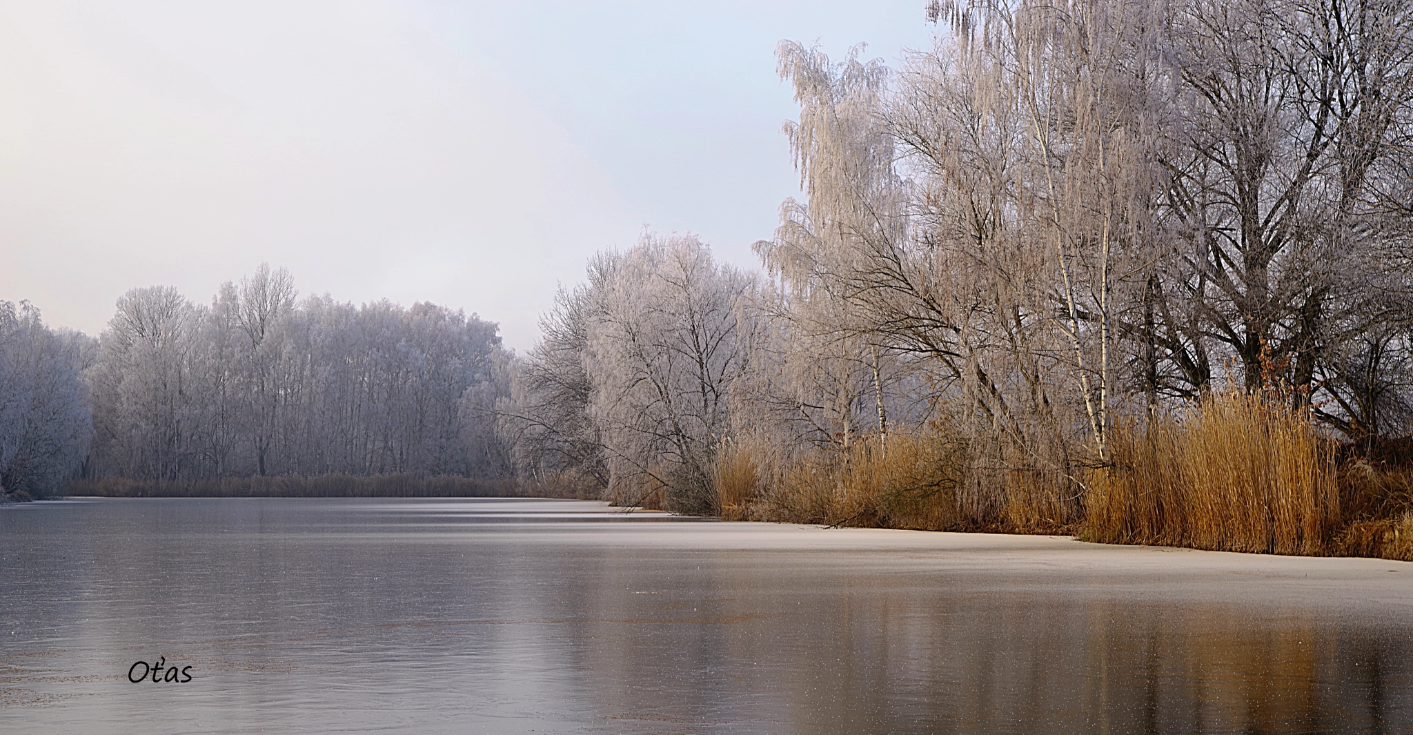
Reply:
[[1284, 397], [1228, 392], [1142, 430], [1116, 430], [1108, 462], [983, 462], [962, 442], [921, 431], [848, 448], [745, 435], [721, 445], [712, 485], [726, 520], [1413, 561], [1407, 444], [1407, 457], [1382, 459], [1341, 449]]

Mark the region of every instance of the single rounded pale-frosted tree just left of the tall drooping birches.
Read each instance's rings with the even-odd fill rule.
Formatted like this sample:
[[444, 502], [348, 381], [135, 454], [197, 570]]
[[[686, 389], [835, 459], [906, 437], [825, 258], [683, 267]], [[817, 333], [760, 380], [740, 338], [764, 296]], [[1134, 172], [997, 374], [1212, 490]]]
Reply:
[[610, 489], [633, 505], [661, 489], [668, 507], [712, 510], [712, 459], [731, 386], [747, 369], [736, 305], [757, 278], [716, 263], [692, 236], [644, 236], [595, 257], [589, 283], [599, 310], [588, 325], [588, 416]]

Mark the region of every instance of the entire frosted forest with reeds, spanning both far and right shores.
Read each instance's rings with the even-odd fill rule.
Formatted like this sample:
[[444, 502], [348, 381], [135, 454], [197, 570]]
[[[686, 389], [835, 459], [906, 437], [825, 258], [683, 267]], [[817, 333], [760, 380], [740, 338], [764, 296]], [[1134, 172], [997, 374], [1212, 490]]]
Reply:
[[777, 48], [803, 195], [760, 270], [644, 232], [524, 355], [267, 267], [209, 307], [130, 291], [96, 339], [0, 305], [0, 482], [1413, 560], [1410, 4], [926, 10], [897, 68]]

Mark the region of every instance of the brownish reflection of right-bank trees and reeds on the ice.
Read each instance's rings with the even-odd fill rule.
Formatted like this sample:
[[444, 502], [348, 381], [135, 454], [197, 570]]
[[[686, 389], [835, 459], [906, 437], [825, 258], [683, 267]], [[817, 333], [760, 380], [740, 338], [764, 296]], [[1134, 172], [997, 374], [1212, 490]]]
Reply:
[[[1403, 732], [1406, 632], [1308, 611], [1142, 605], [1003, 584], [698, 558], [650, 588], [599, 560], [579, 684], [615, 717], [791, 732]], [[626, 591], [626, 594], [625, 594]], [[687, 721], [684, 719], [684, 721]]]

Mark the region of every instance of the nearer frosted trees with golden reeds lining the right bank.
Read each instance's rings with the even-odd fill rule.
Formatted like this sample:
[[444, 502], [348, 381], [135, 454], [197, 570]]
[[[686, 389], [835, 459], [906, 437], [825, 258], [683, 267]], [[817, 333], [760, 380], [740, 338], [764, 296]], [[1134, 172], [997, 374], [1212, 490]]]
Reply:
[[1356, 481], [1332, 444], [1413, 417], [1410, 4], [928, 14], [900, 69], [780, 45], [807, 199], [766, 276], [647, 237], [560, 294], [500, 407], [521, 475], [732, 517], [1413, 554], [1399, 471]]

